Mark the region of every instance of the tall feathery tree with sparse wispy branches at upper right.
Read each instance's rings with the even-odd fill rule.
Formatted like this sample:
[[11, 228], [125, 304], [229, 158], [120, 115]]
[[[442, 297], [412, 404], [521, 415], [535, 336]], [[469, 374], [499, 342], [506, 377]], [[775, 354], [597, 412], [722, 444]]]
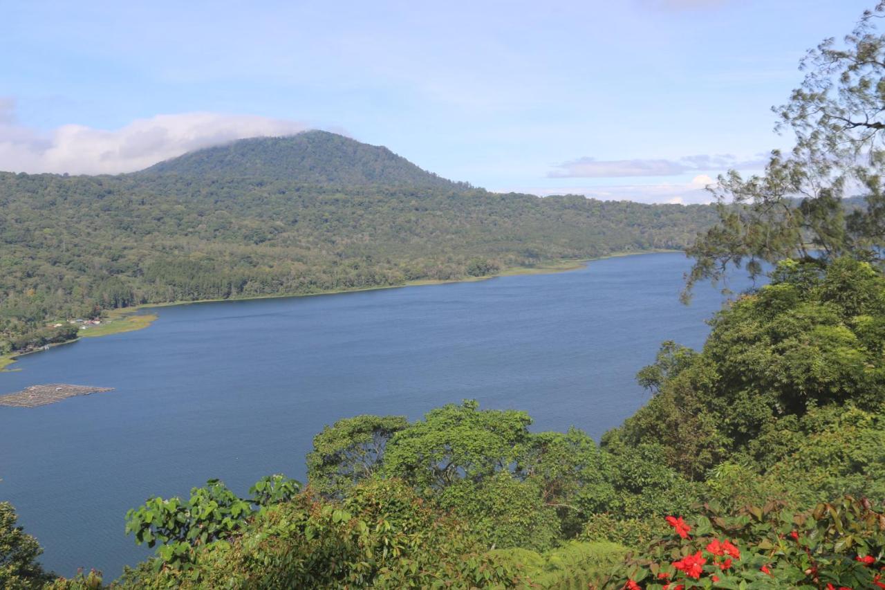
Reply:
[[[826, 39], [802, 60], [804, 82], [773, 109], [776, 128], [796, 137], [792, 151], [773, 151], [764, 175], [719, 177], [712, 193], [720, 220], [688, 250], [695, 264], [684, 299], [730, 265], [755, 277], [763, 263], [788, 258], [821, 266], [845, 255], [882, 260], [885, 35], [875, 27], [882, 16], [885, 2], [864, 13], [843, 46]], [[851, 195], [863, 198], [846, 203]]]

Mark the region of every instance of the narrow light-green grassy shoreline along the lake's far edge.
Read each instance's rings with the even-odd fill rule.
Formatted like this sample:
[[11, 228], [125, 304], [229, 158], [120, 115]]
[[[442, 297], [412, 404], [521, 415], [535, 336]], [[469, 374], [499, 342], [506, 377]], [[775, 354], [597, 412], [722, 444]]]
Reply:
[[[548, 262], [542, 262], [536, 267], [509, 267], [503, 268], [500, 271], [496, 272], [494, 275], [486, 275], [486, 276], [464, 276], [460, 278], [454, 279], [416, 279], [413, 281], [406, 281], [403, 284], [389, 284], [382, 285], [377, 287], [364, 287], [361, 289], [338, 289], [332, 291], [318, 291], [316, 293], [286, 293], [281, 295], [258, 295], [255, 297], [231, 297], [227, 299], [196, 299], [192, 301], [166, 301], [165, 303], [142, 303], [141, 305], [132, 306], [132, 307], [119, 307], [117, 309], [111, 309], [107, 311], [108, 321], [99, 324], [98, 326], [94, 326], [88, 328], [86, 330], [82, 330], [83, 332], [89, 333], [81, 333], [77, 338], [73, 338], [72, 340], [66, 340], [65, 342], [58, 342], [54, 344], [50, 344], [50, 347], [53, 346], [61, 346], [72, 344], [81, 340], [81, 338], [101, 338], [103, 336], [110, 336], [112, 334], [121, 334], [123, 332], [131, 332], [135, 330], [143, 330], [145, 328], [150, 327], [150, 325], [158, 319], [157, 314], [138, 314], [142, 309], [150, 309], [154, 307], [172, 307], [172, 306], [187, 306], [198, 303], [219, 303], [221, 301], [254, 301], [256, 299], [283, 299], [283, 298], [293, 298], [293, 297], [315, 297], [319, 295], [340, 295], [342, 293], [358, 293], [361, 291], [381, 291], [382, 289], [402, 289], [404, 287], [423, 287], [428, 285], [436, 285], [436, 284], [450, 284], [450, 283], [475, 283], [477, 281], [488, 281], [489, 279], [497, 278], [500, 276], [525, 276], [525, 275], [554, 275], [557, 273], [569, 272], [572, 270], [578, 270], [579, 268], [586, 268], [590, 262], [595, 262], [596, 260], [608, 260], [611, 258], [622, 258], [626, 256], [638, 256], [640, 254], [662, 254], [662, 253], [675, 253], [682, 252], [681, 250], [667, 250], [667, 249], [652, 249], [652, 250], [643, 250], [640, 252], [612, 252], [610, 254], [604, 254], [603, 256], [596, 256], [594, 258], [587, 259], [562, 259], [562, 260], [551, 260]], [[95, 330], [95, 331], [92, 331]], [[97, 332], [97, 333], [96, 333]], [[19, 359], [19, 357], [26, 356], [27, 354], [34, 354], [42, 352], [42, 348], [37, 348], [36, 350], [30, 350], [25, 353], [10, 353], [10, 354], [0, 354], [0, 373], [7, 373], [11, 371], [19, 371], [21, 369], [6, 369], [10, 365], [12, 365], [15, 361]]]

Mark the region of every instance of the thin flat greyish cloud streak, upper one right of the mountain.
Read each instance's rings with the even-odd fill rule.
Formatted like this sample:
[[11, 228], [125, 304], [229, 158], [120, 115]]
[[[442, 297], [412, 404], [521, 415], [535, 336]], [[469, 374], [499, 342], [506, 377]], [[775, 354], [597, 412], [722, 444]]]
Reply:
[[558, 165], [547, 173], [549, 178], [618, 178], [625, 176], [678, 176], [689, 172], [728, 168], [761, 169], [763, 154], [752, 159], [738, 159], [732, 154], [700, 154], [680, 159], [606, 159], [579, 158]]

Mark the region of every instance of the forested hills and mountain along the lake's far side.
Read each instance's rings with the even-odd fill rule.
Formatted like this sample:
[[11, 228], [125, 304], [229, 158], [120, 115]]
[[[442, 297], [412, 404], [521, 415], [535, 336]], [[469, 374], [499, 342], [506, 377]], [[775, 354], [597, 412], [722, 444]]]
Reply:
[[132, 175], [0, 173], [0, 210], [0, 353], [67, 338], [46, 325], [115, 307], [683, 249], [715, 221], [711, 206], [476, 190], [322, 131]]

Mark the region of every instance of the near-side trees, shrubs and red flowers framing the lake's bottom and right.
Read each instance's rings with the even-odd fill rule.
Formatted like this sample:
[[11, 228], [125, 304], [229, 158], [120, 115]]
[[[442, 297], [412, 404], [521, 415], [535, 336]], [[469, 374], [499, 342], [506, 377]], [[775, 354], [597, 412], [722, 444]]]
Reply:
[[[156, 555], [113, 585], [885, 588], [883, 13], [809, 52], [778, 110], [796, 148], [720, 178], [686, 295], [732, 267], [770, 281], [715, 314], [700, 350], [665, 342], [637, 376], [650, 402], [620, 427], [538, 432], [473, 400], [411, 423], [344, 417], [313, 439], [306, 485], [277, 474], [241, 498], [212, 480], [131, 509], [127, 533]], [[857, 186], [864, 206], [844, 207]], [[519, 202], [432, 198], [472, 194]], [[104, 585], [39, 554], [0, 503], [0, 581]]]

